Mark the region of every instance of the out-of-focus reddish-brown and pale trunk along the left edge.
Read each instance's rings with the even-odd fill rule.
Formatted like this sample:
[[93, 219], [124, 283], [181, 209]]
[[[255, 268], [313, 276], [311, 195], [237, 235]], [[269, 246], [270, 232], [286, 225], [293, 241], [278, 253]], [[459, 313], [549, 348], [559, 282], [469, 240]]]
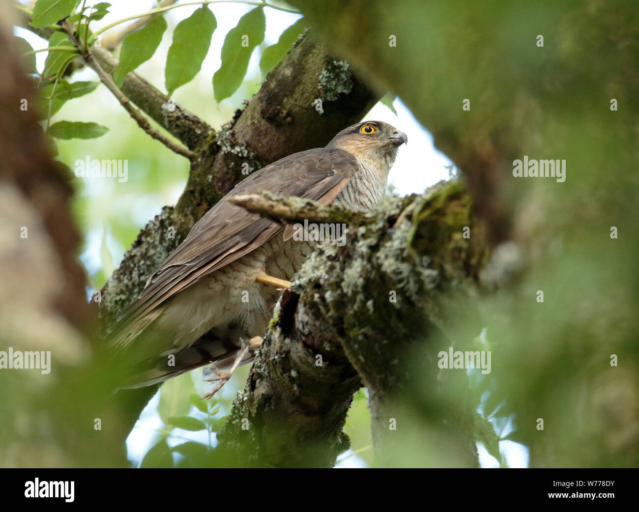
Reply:
[[[82, 393], [97, 396], [100, 379], [84, 374], [98, 369], [90, 363], [95, 322], [77, 259], [72, 175], [53, 160], [37, 124], [33, 82], [12, 36], [12, 9], [0, 4], [0, 350], [6, 358], [0, 465], [121, 466], [125, 451], [94, 430], [101, 416], [96, 403], [78, 400]], [[7, 365], [12, 352], [13, 368]], [[18, 353], [24, 354], [20, 366]], [[35, 368], [27, 366], [27, 354]]]

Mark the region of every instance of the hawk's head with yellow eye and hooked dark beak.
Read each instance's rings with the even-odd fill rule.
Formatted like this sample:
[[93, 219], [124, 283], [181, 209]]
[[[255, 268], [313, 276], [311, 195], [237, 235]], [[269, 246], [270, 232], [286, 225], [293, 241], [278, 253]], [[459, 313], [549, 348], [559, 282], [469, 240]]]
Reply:
[[397, 149], [407, 142], [406, 133], [388, 123], [364, 121], [337, 133], [327, 148], [344, 149], [387, 175], [395, 162]]

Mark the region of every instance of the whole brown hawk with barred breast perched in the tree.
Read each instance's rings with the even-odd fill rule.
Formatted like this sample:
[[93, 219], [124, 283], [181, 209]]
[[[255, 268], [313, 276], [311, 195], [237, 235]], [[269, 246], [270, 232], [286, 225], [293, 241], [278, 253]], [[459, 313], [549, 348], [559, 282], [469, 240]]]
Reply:
[[385, 192], [397, 149], [406, 142], [390, 124], [364, 121], [326, 147], [286, 156], [236, 184], [109, 329], [107, 346], [136, 364], [122, 387], [150, 386], [213, 363], [218, 377], [210, 380], [220, 382], [205, 395], [212, 396], [261, 346], [280, 290], [314, 242], [292, 237], [292, 225], [249, 213], [229, 198], [266, 190], [363, 211]]

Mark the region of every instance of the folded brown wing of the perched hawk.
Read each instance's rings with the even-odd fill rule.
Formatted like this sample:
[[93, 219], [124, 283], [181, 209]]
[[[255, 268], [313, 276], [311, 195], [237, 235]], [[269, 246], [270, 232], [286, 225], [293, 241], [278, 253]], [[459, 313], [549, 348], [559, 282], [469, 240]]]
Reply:
[[[281, 196], [330, 202], [358, 169], [355, 157], [343, 149], [309, 149], [273, 162], [238, 183], [194, 225], [186, 239], [151, 275], [139, 299], [109, 329], [111, 338], [119, 338], [119, 342], [113, 340], [112, 346], [126, 344], [121, 343], [122, 331], [135, 319], [282, 230], [278, 223], [231, 204], [229, 197], [268, 190]], [[124, 339], [128, 342], [133, 334], [128, 333]]]

